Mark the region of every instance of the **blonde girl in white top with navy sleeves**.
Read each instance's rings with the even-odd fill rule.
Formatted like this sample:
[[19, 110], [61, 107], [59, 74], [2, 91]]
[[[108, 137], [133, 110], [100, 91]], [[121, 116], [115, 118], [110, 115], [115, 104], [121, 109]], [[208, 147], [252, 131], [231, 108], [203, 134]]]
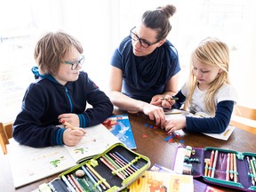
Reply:
[[204, 39], [192, 52], [190, 67], [188, 82], [175, 95], [179, 100], [172, 108], [180, 108], [185, 101], [184, 109], [193, 114], [204, 112], [208, 117], [171, 119], [165, 122], [165, 130], [168, 133], [183, 128], [190, 132], [224, 132], [236, 103], [236, 92], [228, 80], [227, 44], [216, 38]]

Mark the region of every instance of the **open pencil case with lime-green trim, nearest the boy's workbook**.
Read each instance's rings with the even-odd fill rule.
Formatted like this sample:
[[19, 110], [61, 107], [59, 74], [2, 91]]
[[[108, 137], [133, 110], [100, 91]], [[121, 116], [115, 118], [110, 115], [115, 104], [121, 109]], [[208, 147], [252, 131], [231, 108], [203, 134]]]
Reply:
[[126, 188], [150, 166], [147, 156], [117, 143], [98, 156], [60, 173], [48, 183], [52, 191], [106, 191]]

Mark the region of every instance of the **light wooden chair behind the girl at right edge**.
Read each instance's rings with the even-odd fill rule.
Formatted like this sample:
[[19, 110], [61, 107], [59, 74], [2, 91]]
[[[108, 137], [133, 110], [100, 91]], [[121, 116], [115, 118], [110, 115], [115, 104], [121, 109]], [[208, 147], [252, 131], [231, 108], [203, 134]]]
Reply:
[[256, 134], [256, 108], [236, 105], [230, 124], [247, 132]]

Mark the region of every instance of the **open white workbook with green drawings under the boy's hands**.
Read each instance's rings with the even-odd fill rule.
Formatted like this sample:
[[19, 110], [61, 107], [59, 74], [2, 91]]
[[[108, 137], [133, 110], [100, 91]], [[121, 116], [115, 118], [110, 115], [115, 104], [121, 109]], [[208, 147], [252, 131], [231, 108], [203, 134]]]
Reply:
[[85, 128], [84, 139], [76, 146], [31, 148], [13, 138], [7, 145], [15, 188], [53, 174], [96, 156], [120, 141], [102, 124]]

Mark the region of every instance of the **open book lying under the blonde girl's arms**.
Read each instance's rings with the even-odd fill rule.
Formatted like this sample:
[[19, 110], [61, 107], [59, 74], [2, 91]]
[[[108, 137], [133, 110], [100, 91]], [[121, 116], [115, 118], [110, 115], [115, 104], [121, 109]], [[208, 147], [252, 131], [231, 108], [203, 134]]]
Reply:
[[[198, 118], [204, 118], [204, 117], [210, 117], [204, 112], [197, 112], [196, 114], [189, 113], [188, 111], [180, 110], [180, 109], [164, 109], [165, 119], [178, 119], [181, 116], [195, 116]], [[218, 139], [218, 140], [228, 140], [232, 132], [234, 132], [236, 127], [228, 125], [226, 130], [221, 133], [205, 133], [202, 132], [204, 135], [207, 135], [209, 137]]]

